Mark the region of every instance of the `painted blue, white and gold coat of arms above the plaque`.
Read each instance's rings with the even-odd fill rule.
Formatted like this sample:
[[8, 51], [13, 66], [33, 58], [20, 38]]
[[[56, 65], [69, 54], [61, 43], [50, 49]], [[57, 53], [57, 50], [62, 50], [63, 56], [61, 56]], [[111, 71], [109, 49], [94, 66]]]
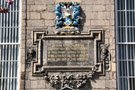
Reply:
[[59, 2], [56, 5], [56, 34], [80, 34], [80, 4]]

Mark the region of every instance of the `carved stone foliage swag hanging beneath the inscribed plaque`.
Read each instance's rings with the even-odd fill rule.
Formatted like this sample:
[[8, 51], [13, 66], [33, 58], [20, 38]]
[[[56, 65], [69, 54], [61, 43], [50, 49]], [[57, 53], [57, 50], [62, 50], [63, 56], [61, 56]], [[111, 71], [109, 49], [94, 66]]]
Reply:
[[89, 80], [89, 77], [88, 77], [88, 73], [87, 74], [55, 74], [55, 75], [48, 75], [46, 77], [46, 80], [51, 83], [52, 87], [58, 89], [63, 87], [80, 88], [81, 86], [86, 84], [87, 80]]

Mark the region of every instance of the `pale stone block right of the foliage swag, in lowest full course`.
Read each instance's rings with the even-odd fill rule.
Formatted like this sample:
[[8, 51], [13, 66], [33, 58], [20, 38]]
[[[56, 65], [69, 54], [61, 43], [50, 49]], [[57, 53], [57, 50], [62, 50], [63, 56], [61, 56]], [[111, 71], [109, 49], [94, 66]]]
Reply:
[[105, 80], [95, 80], [95, 81], [91, 81], [91, 86], [92, 88], [95, 89], [105, 89]]

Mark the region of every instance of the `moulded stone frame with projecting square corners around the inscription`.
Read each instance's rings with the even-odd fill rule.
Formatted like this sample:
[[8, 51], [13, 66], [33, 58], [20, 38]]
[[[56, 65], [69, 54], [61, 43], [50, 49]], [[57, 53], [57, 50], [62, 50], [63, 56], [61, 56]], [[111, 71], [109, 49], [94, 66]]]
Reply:
[[[32, 75], [44, 75], [47, 72], [61, 72], [61, 71], [85, 71], [92, 76], [95, 72], [104, 74], [104, 60], [100, 58], [100, 45], [104, 43], [103, 30], [89, 30], [88, 33], [81, 33], [80, 35], [55, 35], [48, 34], [48, 31], [40, 31], [37, 29], [33, 31], [33, 44], [37, 45], [37, 61], [32, 61]], [[41, 65], [41, 41], [44, 38], [94, 38], [98, 50], [95, 66], [42, 66]], [[38, 68], [40, 67], [40, 68]]]

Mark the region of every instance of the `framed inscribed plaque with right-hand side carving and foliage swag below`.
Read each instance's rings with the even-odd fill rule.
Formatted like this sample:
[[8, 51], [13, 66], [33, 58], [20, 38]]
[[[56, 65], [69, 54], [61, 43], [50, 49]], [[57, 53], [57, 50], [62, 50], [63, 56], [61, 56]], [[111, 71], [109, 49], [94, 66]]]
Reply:
[[36, 60], [31, 60], [32, 75], [44, 76], [60, 90], [80, 88], [93, 75], [104, 75], [110, 65], [109, 45], [104, 44], [103, 30], [56, 35], [38, 29], [33, 31], [33, 45], [37, 49]]

